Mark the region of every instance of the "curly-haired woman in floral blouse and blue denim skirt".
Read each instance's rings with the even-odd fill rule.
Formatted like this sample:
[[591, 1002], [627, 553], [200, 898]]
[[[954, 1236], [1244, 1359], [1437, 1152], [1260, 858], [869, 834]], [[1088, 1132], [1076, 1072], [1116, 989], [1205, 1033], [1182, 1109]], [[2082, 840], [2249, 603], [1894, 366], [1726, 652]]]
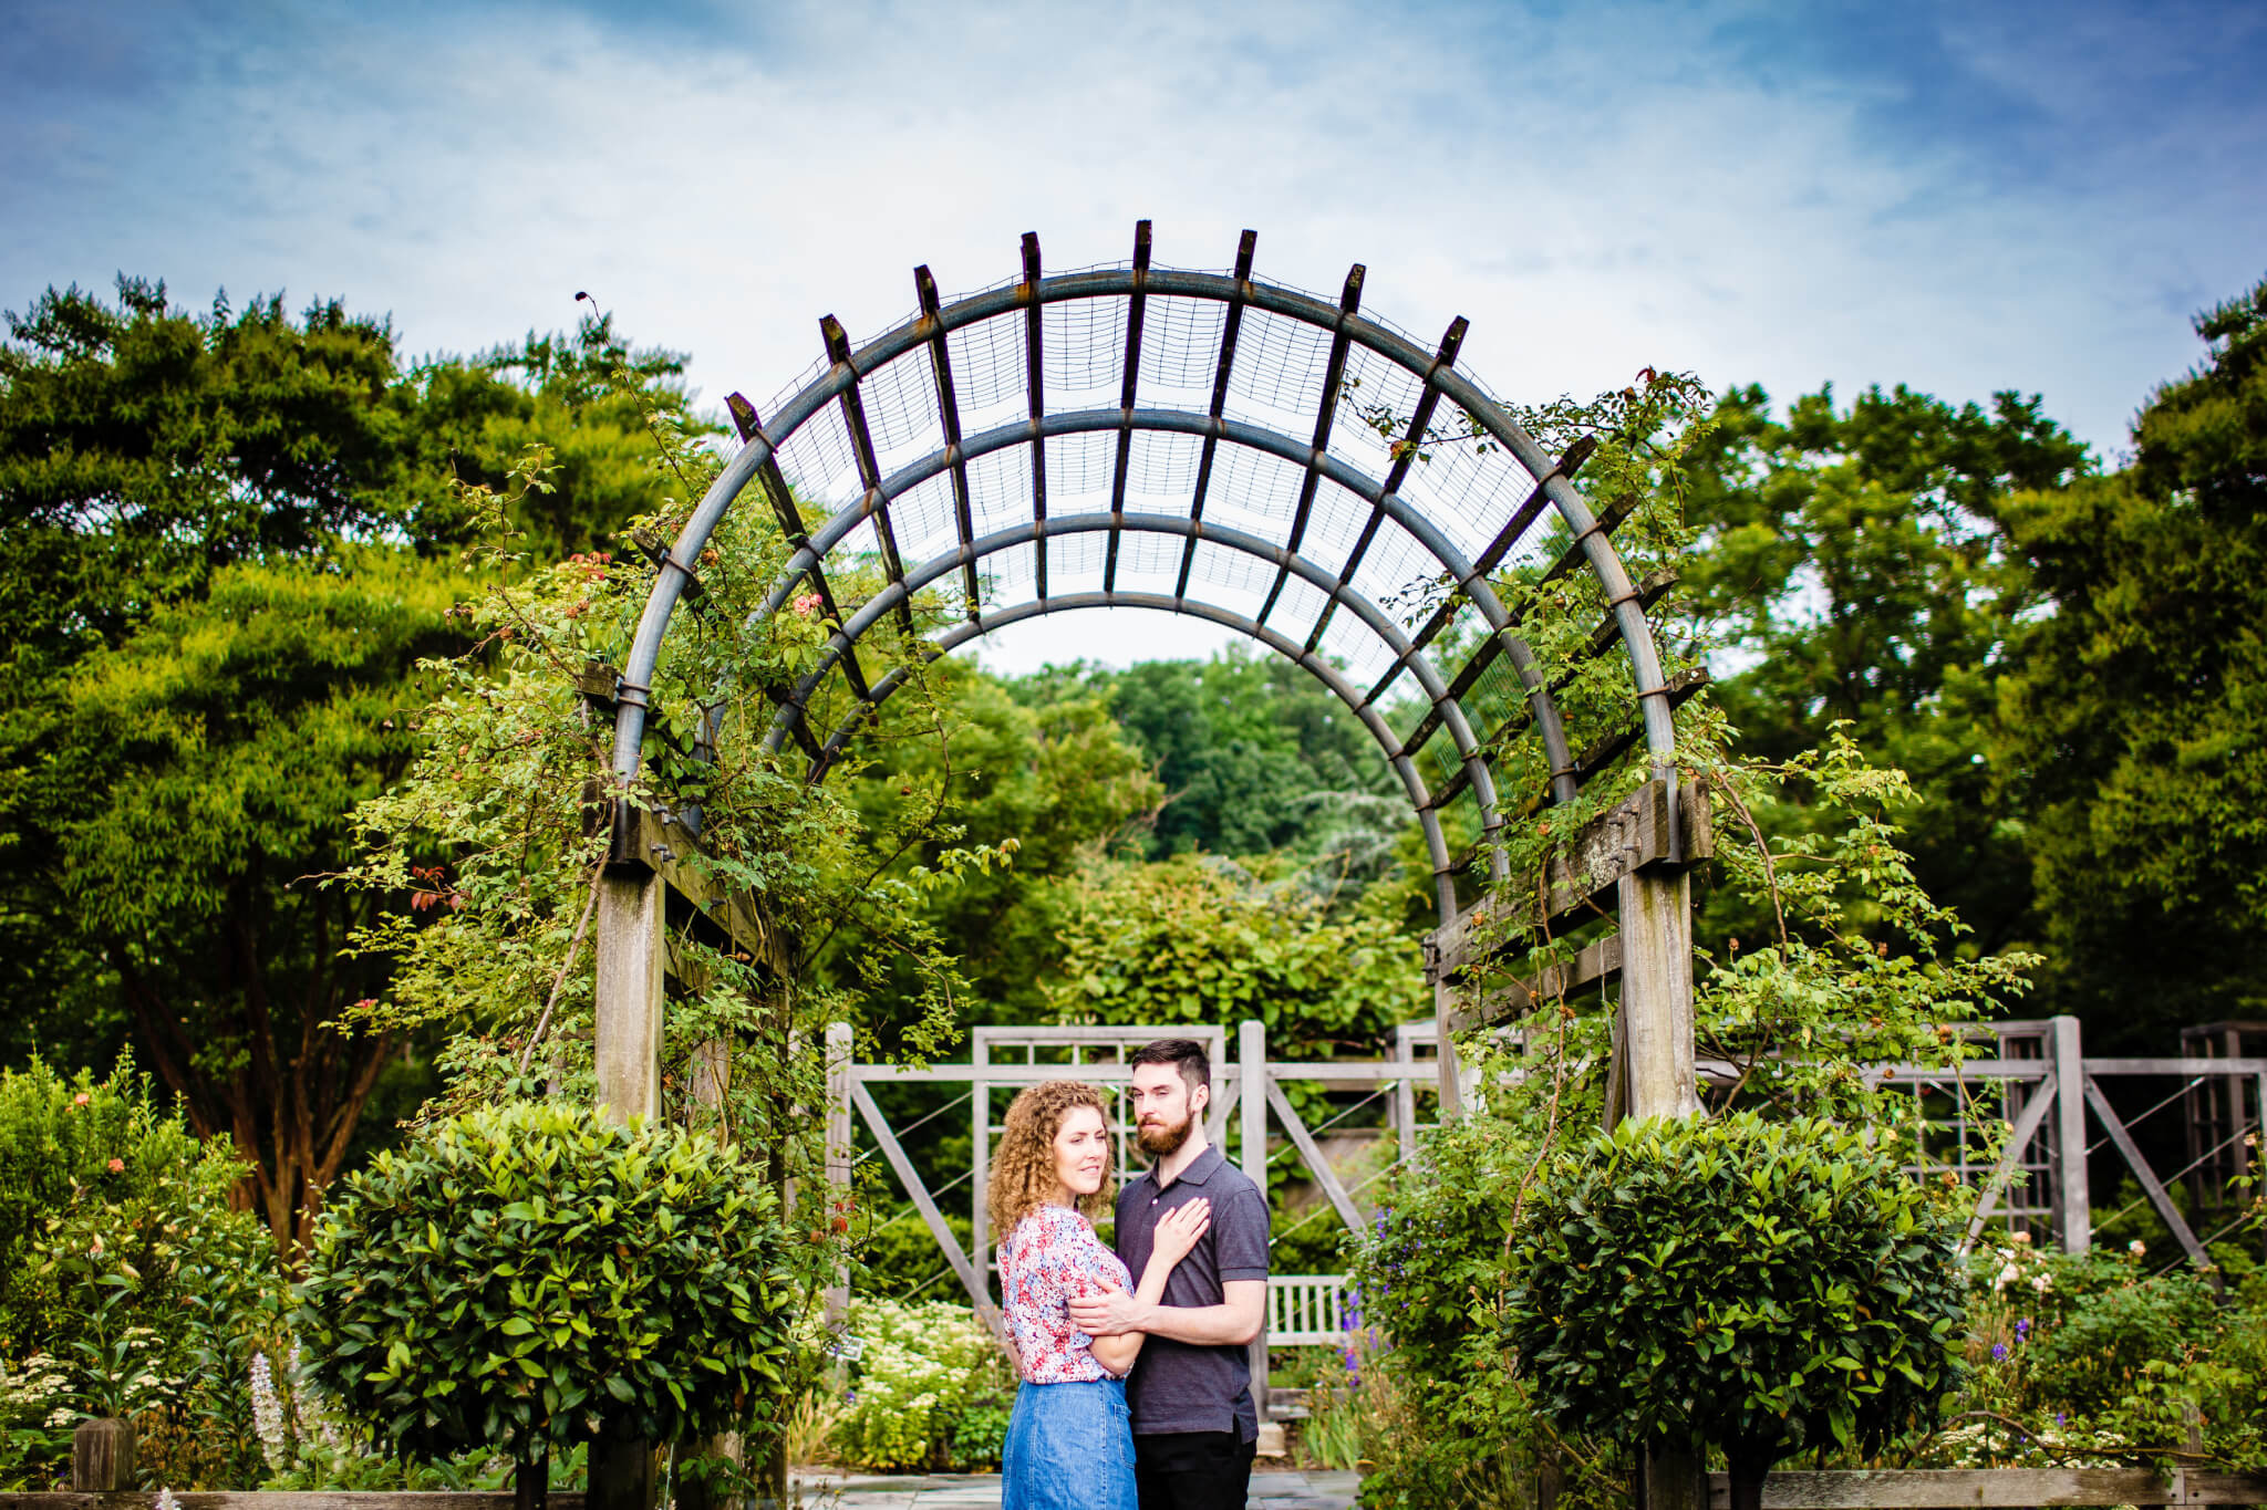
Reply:
[[[1000, 1510], [1138, 1510], [1134, 1417], [1124, 1376], [1140, 1333], [1088, 1338], [1070, 1324], [1070, 1299], [1129, 1284], [1088, 1220], [1111, 1209], [1111, 1134], [1102, 1091], [1077, 1080], [1034, 1084], [1007, 1112], [993, 1155], [991, 1211], [1000, 1243], [1000, 1293], [1022, 1388], [1007, 1424]], [[1156, 1252], [1138, 1295], [1158, 1302], [1165, 1277], [1211, 1225], [1192, 1200], [1156, 1225]]]

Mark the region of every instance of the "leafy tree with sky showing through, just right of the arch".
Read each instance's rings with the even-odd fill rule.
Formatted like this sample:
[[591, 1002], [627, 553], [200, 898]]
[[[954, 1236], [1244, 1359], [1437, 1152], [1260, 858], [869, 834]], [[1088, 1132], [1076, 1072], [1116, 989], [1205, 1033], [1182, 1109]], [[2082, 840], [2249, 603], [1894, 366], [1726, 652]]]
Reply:
[[[1750, 385], [1714, 419], [1687, 460], [1700, 534], [1678, 564], [1680, 611], [1721, 645], [1718, 702], [1741, 747], [1784, 761], [1850, 720], [1922, 797], [1920, 883], [1984, 949], [2031, 937], [2022, 824], [1990, 799], [1984, 758], [1995, 659], [2038, 602], [2002, 507], [2079, 475], [2086, 448], [2013, 392], [1986, 412], [1902, 385], [1836, 407], [1823, 387], [1780, 421]], [[1718, 933], [1739, 921], [1721, 915]]]

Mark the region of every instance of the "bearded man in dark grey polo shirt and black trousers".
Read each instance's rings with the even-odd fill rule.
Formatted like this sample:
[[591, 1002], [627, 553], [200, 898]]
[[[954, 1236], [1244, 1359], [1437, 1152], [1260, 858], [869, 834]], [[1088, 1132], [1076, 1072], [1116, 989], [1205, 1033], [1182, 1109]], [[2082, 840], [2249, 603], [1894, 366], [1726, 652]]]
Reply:
[[1267, 1315], [1267, 1195], [1204, 1136], [1213, 1066], [1202, 1044], [1158, 1039], [1131, 1064], [1136, 1139], [1154, 1164], [1118, 1193], [1118, 1256], [1140, 1275], [1158, 1218], [1192, 1200], [1213, 1204], [1213, 1225], [1158, 1304], [1113, 1290], [1070, 1302], [1070, 1320], [1088, 1336], [1147, 1333], [1127, 1381], [1140, 1510], [1245, 1510], [1260, 1433], [1249, 1342]]

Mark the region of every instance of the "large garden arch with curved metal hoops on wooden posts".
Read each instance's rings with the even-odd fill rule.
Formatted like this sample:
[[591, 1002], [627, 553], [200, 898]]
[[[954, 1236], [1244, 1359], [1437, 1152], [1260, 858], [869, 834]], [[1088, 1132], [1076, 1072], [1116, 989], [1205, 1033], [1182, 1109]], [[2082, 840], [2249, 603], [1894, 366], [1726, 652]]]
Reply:
[[[934, 634], [945, 654], [986, 632], [1086, 607], [1147, 607], [1238, 629], [1299, 663], [1378, 743], [1424, 826], [1442, 928], [1428, 944], [1442, 1044], [1458, 1026], [1446, 989], [1474, 960], [1471, 908], [1458, 903], [1442, 813], [1469, 804], [1467, 831], [1503, 824], [1489, 752], [1530, 729], [1548, 790], [1569, 801], [1610, 758], [1644, 740], [1653, 783], [1605, 820], [1569, 835], [1542, 887], [1544, 908], [1619, 896], [1621, 937], [1591, 962], [1623, 980], [1628, 1100], [1635, 1112], [1689, 1112], [1691, 953], [1689, 853], [1707, 826], [1678, 783], [1671, 711], [1689, 690], [1662, 675], [1646, 609], [1659, 582], [1632, 584], [1573, 482], [1587, 448], [1551, 457], [1455, 367], [1467, 321], [1435, 346], [1365, 315], [1356, 265], [1335, 301], [1251, 276], [1245, 231], [1229, 272], [1156, 267], [1149, 222], [1124, 265], [1045, 274], [1036, 235], [1016, 278], [945, 301], [916, 269], [918, 312], [852, 346], [821, 321], [825, 355], [771, 405], [766, 421], [730, 396], [741, 448], [657, 559], [657, 575], [617, 704], [614, 777], [644, 761], [653, 672], [671, 614], [698, 577], [725, 512], [755, 491], [793, 557], [762, 614], [816, 595], [837, 625], [818, 663], [775, 697], [771, 749], [793, 743], [809, 779], [825, 779], [857, 729], [905, 681], [868, 679], [859, 641], [882, 623], [916, 634], [925, 591], [959, 595], [961, 623]], [[1372, 423], [1406, 419], [1406, 428]], [[1471, 437], [1433, 444], [1426, 437]], [[809, 503], [841, 500], [812, 525]], [[1628, 661], [1635, 718], [1610, 752], [1576, 754], [1553, 686], [1519, 636], [1489, 575], [1539, 559], [1537, 523], [1569, 537], [1551, 573], [1594, 575], [1610, 618], [1594, 647]], [[830, 566], [877, 561], [886, 586], [861, 604], [837, 600]], [[1421, 623], [1390, 602], [1415, 582], [1444, 584]], [[1442, 647], [1458, 650], [1444, 666]], [[1394, 695], [1421, 709], [1406, 731]], [[846, 697], [843, 697], [846, 695]], [[843, 702], [832, 727], [814, 709]], [[1489, 729], [1474, 706], [1514, 709]], [[628, 810], [623, 822], [632, 822]], [[1689, 838], [1687, 838], [1689, 835]], [[660, 1023], [660, 908], [648, 847], [617, 829], [617, 867], [598, 915], [598, 1073], [610, 1105], [657, 1103], [651, 1080]], [[1503, 881], [1501, 853], [1480, 844]], [[1453, 1053], [1442, 1055], [1453, 1105]]]

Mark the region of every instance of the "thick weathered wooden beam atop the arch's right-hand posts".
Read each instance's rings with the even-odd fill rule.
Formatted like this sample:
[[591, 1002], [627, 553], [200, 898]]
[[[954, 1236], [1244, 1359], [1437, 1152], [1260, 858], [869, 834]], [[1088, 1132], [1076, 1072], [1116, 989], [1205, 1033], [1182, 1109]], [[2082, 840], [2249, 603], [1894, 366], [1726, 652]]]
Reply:
[[[1682, 844], [1682, 849], [1678, 847]], [[1492, 919], [1508, 919], [1512, 935], [1532, 930], [1546, 915], [1562, 917], [1601, 903], [1614, 885], [1648, 865], [1691, 865], [1714, 853], [1707, 790], [1678, 783], [1671, 817], [1669, 788], [1648, 781], [1589, 820], [1551, 853], [1546, 878], [1514, 878], [1426, 935], [1426, 978], [1455, 980], [1480, 960], [1474, 935]]]

